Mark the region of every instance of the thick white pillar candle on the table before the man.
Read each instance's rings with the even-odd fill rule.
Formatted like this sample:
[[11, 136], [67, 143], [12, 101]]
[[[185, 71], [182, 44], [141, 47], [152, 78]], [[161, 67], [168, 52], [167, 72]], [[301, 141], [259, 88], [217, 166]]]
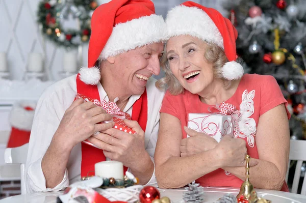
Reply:
[[123, 164], [119, 161], [101, 161], [94, 164], [95, 176], [123, 180]]

